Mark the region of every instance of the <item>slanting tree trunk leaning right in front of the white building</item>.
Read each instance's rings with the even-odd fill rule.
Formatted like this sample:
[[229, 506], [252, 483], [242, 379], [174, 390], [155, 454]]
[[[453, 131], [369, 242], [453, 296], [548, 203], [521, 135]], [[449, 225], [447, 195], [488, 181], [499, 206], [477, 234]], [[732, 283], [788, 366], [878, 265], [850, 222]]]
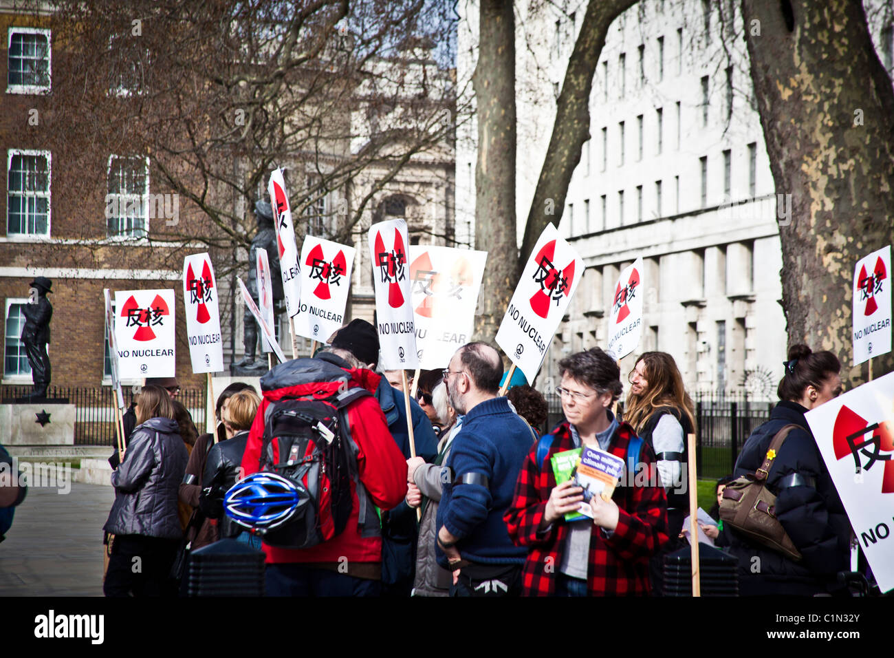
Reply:
[[637, 0], [590, 0], [586, 6], [584, 23], [575, 41], [556, 103], [556, 118], [552, 124], [544, 167], [540, 170], [534, 201], [531, 201], [531, 209], [527, 213], [525, 237], [519, 256], [519, 276], [546, 225], [552, 222], [559, 226], [571, 174], [580, 162], [581, 147], [590, 139], [590, 91], [593, 89], [596, 64], [605, 46], [605, 35], [612, 21], [634, 4]]

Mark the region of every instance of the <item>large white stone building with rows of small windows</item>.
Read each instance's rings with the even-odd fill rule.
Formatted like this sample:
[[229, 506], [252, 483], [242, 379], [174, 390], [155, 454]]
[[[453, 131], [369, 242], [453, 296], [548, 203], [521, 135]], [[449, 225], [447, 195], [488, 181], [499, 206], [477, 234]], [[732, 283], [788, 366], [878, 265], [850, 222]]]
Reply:
[[[586, 0], [533, 5], [516, 11], [519, 244], [586, 12]], [[559, 226], [586, 273], [539, 381], [562, 355], [606, 346], [620, 269], [642, 256], [643, 338], [622, 377], [657, 349], [674, 356], [690, 391], [746, 385], [775, 397], [787, 344], [777, 218], [790, 205], [775, 194], [734, 5], [651, 0], [612, 24]], [[462, 81], [475, 64], [477, 4], [460, 7]], [[867, 13], [890, 70], [890, 12]], [[471, 123], [458, 135], [458, 226], [474, 217], [475, 135]]]

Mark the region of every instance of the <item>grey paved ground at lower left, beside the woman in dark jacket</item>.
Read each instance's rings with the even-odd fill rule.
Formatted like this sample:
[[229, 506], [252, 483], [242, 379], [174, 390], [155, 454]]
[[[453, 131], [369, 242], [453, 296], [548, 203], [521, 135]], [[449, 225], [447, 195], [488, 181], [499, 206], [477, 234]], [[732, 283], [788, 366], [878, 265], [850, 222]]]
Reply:
[[114, 489], [31, 488], [0, 542], [0, 596], [102, 596], [103, 524]]

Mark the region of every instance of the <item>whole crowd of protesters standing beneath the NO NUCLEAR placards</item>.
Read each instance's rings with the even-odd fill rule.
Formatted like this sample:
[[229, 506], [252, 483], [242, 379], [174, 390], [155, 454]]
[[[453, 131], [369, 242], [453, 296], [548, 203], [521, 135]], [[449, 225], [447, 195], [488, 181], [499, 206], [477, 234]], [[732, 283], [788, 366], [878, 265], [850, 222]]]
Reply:
[[[639, 356], [628, 372], [622, 417], [614, 357], [598, 347], [568, 355], [555, 389], [564, 420], [555, 427], [546, 425], [536, 388], [500, 394], [502, 358], [486, 343], [461, 346], [443, 372], [418, 374], [409, 405], [401, 390], [406, 377], [376, 372], [378, 359], [375, 328], [353, 320], [312, 360], [274, 367], [260, 397], [246, 383], [224, 389], [216, 432], [201, 436], [176, 400], [177, 381], [148, 381], [125, 418], [124, 457], [110, 459], [115, 500], [104, 528], [105, 594], [182, 593], [190, 551], [222, 539], [265, 552], [267, 595], [661, 594], [662, 556], [685, 542], [686, 438], [696, 432], [671, 355]], [[839, 394], [840, 363], [829, 352], [794, 346], [785, 365], [780, 403], [746, 441], [734, 475], [754, 472], [780, 427], [797, 425], [768, 482], [778, 491], [777, 516], [804, 559], [793, 561], [729, 524], [702, 527], [738, 560], [742, 594], [834, 593], [836, 573], [847, 568], [850, 528], [804, 414]], [[356, 447], [347, 524], [325, 542], [290, 549], [234, 523], [223, 499], [259, 470], [266, 412], [306, 394], [308, 372], [341, 377], [365, 393], [345, 407]], [[587, 446], [657, 478], [622, 477], [611, 497], [589, 500], [593, 518], [567, 521], [584, 491], [572, 481], [557, 483], [551, 458]], [[711, 516], [718, 521], [731, 480], [716, 489]], [[758, 573], [755, 557], [763, 564]], [[136, 558], [139, 570], [131, 568]]]

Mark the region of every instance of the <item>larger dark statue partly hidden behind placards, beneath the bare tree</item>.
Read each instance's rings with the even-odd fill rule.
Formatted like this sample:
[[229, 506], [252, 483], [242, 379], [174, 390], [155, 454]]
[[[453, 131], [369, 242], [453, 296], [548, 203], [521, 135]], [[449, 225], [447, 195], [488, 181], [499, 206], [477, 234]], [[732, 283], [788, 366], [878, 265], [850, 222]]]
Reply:
[[[274, 313], [276, 318], [279, 317], [280, 306], [283, 301], [283, 275], [280, 273], [279, 248], [276, 244], [276, 229], [274, 229], [274, 209], [269, 201], [255, 202], [255, 218], [257, 219], [257, 235], [251, 241], [249, 249], [249, 277], [246, 287], [249, 289], [249, 295], [257, 303], [257, 256], [258, 249], [264, 249], [267, 252], [267, 261], [270, 263], [270, 278], [273, 284], [274, 294]], [[245, 355], [239, 363], [233, 363], [231, 372], [241, 370], [266, 370], [265, 362], [255, 362], [255, 346], [257, 345], [257, 321], [255, 316], [249, 311], [249, 307], [245, 307], [242, 316], [243, 338], [242, 346], [245, 349]], [[249, 374], [249, 372], [245, 372]]]

